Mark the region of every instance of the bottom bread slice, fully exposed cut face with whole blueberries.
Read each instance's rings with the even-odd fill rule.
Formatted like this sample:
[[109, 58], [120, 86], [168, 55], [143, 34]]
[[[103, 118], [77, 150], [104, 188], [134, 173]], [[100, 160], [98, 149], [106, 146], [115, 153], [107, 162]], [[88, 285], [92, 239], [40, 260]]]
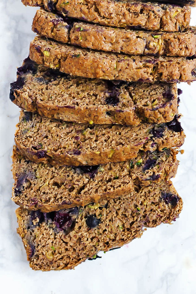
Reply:
[[71, 269], [140, 238], [143, 227], [171, 223], [182, 210], [182, 199], [171, 182], [155, 184], [108, 201], [42, 213], [16, 210], [19, 228], [34, 270]]

